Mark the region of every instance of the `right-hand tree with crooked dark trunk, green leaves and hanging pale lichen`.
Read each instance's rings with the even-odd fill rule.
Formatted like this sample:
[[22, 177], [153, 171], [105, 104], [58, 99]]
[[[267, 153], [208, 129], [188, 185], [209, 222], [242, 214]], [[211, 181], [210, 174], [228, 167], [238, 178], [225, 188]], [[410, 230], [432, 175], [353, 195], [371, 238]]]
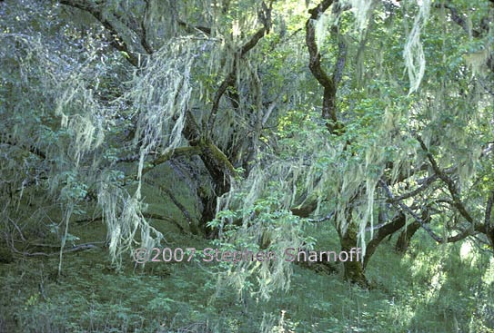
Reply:
[[[378, 244], [400, 230], [397, 247], [401, 249], [419, 228], [439, 243], [476, 237], [482, 246], [492, 249], [491, 194], [484, 191], [485, 185], [480, 186], [484, 190], [477, 187], [476, 171], [485, 169], [474, 166], [489, 164], [485, 153], [490, 151], [491, 119], [484, 115], [492, 105], [488, 83], [492, 81], [492, 54], [487, 46], [491, 37], [488, 29], [481, 34], [477, 28], [468, 28], [458, 14], [458, 5], [466, 4], [382, 2], [358, 6], [322, 1], [309, 10], [308, 67], [322, 88], [320, 118], [326, 120], [330, 135], [316, 141], [318, 147], [325, 147], [324, 154], [311, 155], [310, 148], [304, 147], [302, 165], [319, 163], [318, 168], [306, 167], [304, 176], [297, 171], [297, 176], [287, 177], [289, 181], [281, 186], [288, 198], [297, 198], [298, 192], [290, 188], [303, 187], [292, 186], [300, 177], [310, 180], [305, 190], [313, 194], [306, 195], [306, 203], [297, 207], [294, 201], [281, 200], [277, 209], [291, 208], [306, 218], [325, 201], [326, 209], [330, 208], [328, 218], [317, 220], [334, 221], [342, 250], [358, 245], [367, 248], [363, 264], [344, 264], [347, 279], [362, 286], [368, 286], [364, 269]], [[490, 5], [475, 5], [481, 13], [478, 22], [483, 24], [474, 25], [489, 26]], [[350, 10], [354, 15], [348, 14]], [[408, 17], [415, 17], [414, 22], [408, 22]], [[327, 22], [333, 23], [329, 27], [332, 41], [323, 44], [321, 25], [326, 27]], [[428, 32], [428, 22], [444, 28]], [[358, 28], [348, 29], [348, 24]], [[403, 31], [402, 24], [408, 31]], [[468, 39], [455, 24], [479, 39]], [[463, 44], [456, 44], [458, 40]], [[480, 47], [485, 51], [473, 52], [473, 44], [477, 45], [473, 50]], [[321, 51], [326, 48], [332, 60], [329, 65], [324, 64]], [[470, 57], [479, 63], [471, 63]], [[345, 72], [347, 59], [355, 62]], [[403, 67], [408, 68], [409, 81], [397, 74]], [[445, 126], [450, 129], [448, 134], [439, 134]], [[304, 139], [302, 142], [310, 142]], [[292, 142], [288, 146], [293, 149]], [[433, 153], [430, 147], [434, 147]], [[439, 167], [438, 158], [443, 166]], [[280, 164], [278, 160], [274, 163]], [[270, 173], [271, 179], [275, 172]], [[290, 174], [287, 169], [279, 172]], [[247, 187], [252, 189], [258, 182], [247, 182]], [[473, 193], [477, 198], [471, 201]], [[439, 228], [443, 236], [439, 236]]]

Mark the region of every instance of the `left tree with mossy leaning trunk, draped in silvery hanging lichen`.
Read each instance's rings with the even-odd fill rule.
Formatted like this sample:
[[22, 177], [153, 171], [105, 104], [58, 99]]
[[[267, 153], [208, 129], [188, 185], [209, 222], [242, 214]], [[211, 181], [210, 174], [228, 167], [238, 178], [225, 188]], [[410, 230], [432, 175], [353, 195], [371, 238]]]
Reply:
[[[65, 151], [53, 152], [53, 157], [47, 157], [43, 151], [49, 142], [44, 138], [28, 143], [19, 139], [33, 131], [26, 128], [25, 132], [5, 128], [3, 142], [40, 152], [37, 154], [40, 162], [50, 159], [60, 162], [60, 169], [51, 169], [45, 182], [52, 193], [58, 189], [56, 195], [62, 192], [65, 195], [65, 229], [68, 230], [74, 209], [88, 200], [97, 200], [102, 219], [108, 225], [110, 250], [114, 256], [132, 243], [136, 230], [141, 230], [144, 242], [151, 241], [150, 232], [156, 234], [158, 241], [161, 238], [145, 218], [141, 197], [143, 175], [171, 159], [198, 156], [200, 160], [196, 160], [195, 165], [206, 168], [212, 181], [210, 189], [197, 183], [197, 198], [203, 210], [199, 229], [205, 232], [206, 221], [212, 220], [216, 212], [216, 198], [229, 191], [232, 178], [237, 174], [234, 165], [244, 166], [246, 171], [250, 168], [248, 162], [257, 149], [259, 128], [273, 110], [271, 106], [267, 112], [261, 96], [256, 94], [260, 89], [256, 67], [244, 65], [251, 62], [251, 57], [258, 56], [251, 56], [251, 50], [269, 33], [271, 5], [264, 2], [223, 6], [170, 2], [165, 5], [151, 1], [126, 4], [62, 1], [60, 4], [63, 6], [37, 8], [40, 12], [59, 15], [73, 8], [68, 17], [82, 17], [84, 24], [101, 31], [100, 35], [92, 31], [87, 35], [89, 43], [93, 43], [90, 46], [97, 50], [84, 55], [86, 63], [82, 57], [81, 63], [72, 68], [56, 66], [58, 72], [46, 80], [47, 84], [56, 86], [64, 70], [73, 73], [56, 88], [47, 87], [60, 96], [42, 96], [48, 101], [41, 101], [43, 105], [52, 103], [56, 110], [51, 115], [52, 132], [55, 135], [66, 133], [64, 142], [55, 139]], [[252, 23], [254, 31], [251, 31]], [[65, 38], [72, 37], [67, 32], [61, 34]], [[19, 36], [5, 34], [4, 37]], [[25, 46], [31, 43], [25, 41]], [[36, 45], [45, 46], [42, 42]], [[102, 51], [111, 51], [108, 46], [117, 51], [110, 52], [110, 57], [102, 54]], [[32, 51], [28, 46], [25, 49]], [[59, 52], [54, 49], [46, 53]], [[73, 54], [65, 55], [75, 58]], [[21, 64], [15, 58], [13, 63], [22, 69], [31, 65], [29, 70], [38, 71], [45, 64], [36, 63], [43, 59], [42, 54], [34, 53], [34, 57], [32, 65]], [[123, 64], [123, 59], [128, 64]], [[109, 64], [101, 66], [96, 64], [98, 60]], [[134, 73], [129, 75], [131, 68]], [[104, 78], [102, 71], [115, 75], [116, 80]], [[76, 75], [77, 72], [80, 74]], [[18, 79], [15, 77], [13, 81]], [[118, 80], [128, 80], [130, 84], [116, 83]], [[106, 89], [96, 93], [93, 87]], [[228, 97], [227, 103], [224, 96]], [[12, 102], [14, 104], [14, 100]], [[14, 111], [14, 107], [6, 110], [5, 116]], [[39, 114], [38, 110], [34, 112], [36, 116]], [[58, 119], [61, 126], [56, 124], [60, 122]], [[104, 138], [110, 139], [104, 142]], [[19, 162], [13, 163], [13, 170]], [[137, 162], [135, 174], [128, 174], [125, 167], [119, 166], [128, 162]], [[56, 176], [60, 174], [69, 179]], [[20, 182], [11, 187], [22, 188], [24, 185]], [[35, 184], [31, 179], [27, 182]], [[126, 189], [132, 182], [137, 184], [136, 191]], [[176, 204], [180, 206], [179, 202]], [[12, 202], [7, 206], [12, 206]]]

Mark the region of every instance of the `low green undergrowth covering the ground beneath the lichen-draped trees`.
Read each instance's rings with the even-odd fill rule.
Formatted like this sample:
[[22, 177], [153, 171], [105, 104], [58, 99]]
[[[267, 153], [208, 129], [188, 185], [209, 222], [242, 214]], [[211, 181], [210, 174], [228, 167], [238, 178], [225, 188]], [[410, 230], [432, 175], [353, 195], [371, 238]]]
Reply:
[[[318, 250], [337, 246], [318, 232]], [[168, 234], [168, 246], [211, 246]], [[5, 332], [494, 332], [493, 262], [466, 245], [432, 251], [416, 236], [406, 255], [385, 241], [369, 264], [372, 288], [295, 265], [288, 292], [263, 301], [217, 286], [217, 264], [147, 263], [116, 271], [104, 248], [0, 265]], [[489, 262], [490, 260], [490, 262]], [[490, 287], [489, 287], [490, 284]]]

